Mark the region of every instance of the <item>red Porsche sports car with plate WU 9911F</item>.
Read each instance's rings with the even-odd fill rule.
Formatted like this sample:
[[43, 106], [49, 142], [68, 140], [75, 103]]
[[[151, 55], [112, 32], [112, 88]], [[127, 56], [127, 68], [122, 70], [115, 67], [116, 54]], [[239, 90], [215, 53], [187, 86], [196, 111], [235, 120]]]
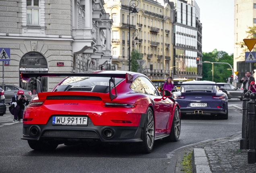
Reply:
[[136, 142], [150, 153], [154, 141], [178, 141], [180, 107], [147, 76], [126, 71], [22, 73], [29, 78], [66, 77], [52, 91], [33, 97], [23, 115], [23, 137], [34, 150], [97, 140]]

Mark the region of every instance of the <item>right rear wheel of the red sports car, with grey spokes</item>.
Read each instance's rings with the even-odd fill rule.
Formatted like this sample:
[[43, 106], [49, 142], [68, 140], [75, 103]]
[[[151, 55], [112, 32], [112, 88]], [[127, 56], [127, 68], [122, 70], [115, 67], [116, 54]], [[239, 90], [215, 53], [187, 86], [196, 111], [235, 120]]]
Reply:
[[147, 110], [147, 118], [144, 122], [144, 127], [141, 134], [142, 143], [140, 149], [143, 153], [151, 153], [155, 140], [155, 123], [154, 115], [150, 108]]

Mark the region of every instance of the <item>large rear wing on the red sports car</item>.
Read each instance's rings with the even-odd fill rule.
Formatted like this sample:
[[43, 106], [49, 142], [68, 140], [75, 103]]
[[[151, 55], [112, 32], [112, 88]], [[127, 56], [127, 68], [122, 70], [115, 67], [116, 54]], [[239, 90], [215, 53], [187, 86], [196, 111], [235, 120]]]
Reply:
[[[118, 96], [116, 91], [115, 78], [125, 78], [127, 83], [132, 83], [132, 74], [126, 73], [107, 73], [107, 72], [85, 72], [85, 73], [23, 73], [21, 72], [22, 82], [29, 82], [30, 78], [36, 78], [37, 80], [37, 93], [42, 93], [41, 78], [42, 77], [70, 77], [70, 76], [81, 76], [81, 77], [110, 77], [109, 79], [109, 97], [111, 101]], [[114, 85], [114, 95], [111, 93], [111, 83]]]

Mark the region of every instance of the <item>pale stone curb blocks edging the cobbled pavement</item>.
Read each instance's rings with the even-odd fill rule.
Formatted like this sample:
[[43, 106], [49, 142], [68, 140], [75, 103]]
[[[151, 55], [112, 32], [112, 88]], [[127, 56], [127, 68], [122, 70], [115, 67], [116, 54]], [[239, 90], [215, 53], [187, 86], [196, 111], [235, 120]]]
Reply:
[[192, 153], [192, 172], [211, 173], [211, 169], [204, 149], [194, 148]]

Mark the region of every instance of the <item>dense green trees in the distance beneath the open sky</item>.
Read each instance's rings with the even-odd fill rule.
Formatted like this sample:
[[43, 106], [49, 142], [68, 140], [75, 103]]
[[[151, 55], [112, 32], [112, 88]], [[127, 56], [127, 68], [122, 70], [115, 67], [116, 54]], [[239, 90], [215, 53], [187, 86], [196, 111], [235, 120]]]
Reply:
[[[203, 52], [202, 53], [202, 61], [209, 62], [227, 62], [233, 68], [233, 54], [229, 55], [225, 51], [217, 51], [217, 49], [213, 50], [213, 52]], [[212, 67], [213, 66], [213, 67]], [[212, 74], [213, 68], [213, 74]], [[228, 64], [211, 64], [211, 63], [203, 63], [202, 65], [202, 80], [209, 80], [214, 82], [227, 82], [227, 78], [229, 78], [232, 74], [232, 70]]]

